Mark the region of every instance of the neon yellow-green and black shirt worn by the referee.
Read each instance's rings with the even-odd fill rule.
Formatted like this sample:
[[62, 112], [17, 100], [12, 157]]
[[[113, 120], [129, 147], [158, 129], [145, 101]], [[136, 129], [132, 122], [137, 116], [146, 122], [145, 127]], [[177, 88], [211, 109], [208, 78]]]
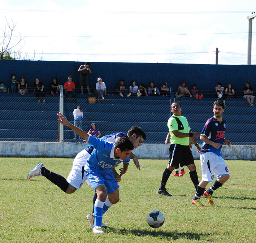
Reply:
[[189, 133], [190, 127], [187, 122], [187, 118], [185, 116], [174, 116], [172, 115], [167, 123], [167, 126], [169, 128], [171, 139], [171, 144], [181, 144], [181, 145], [189, 145], [189, 137], [186, 138], [177, 138], [174, 136], [172, 131], [178, 130], [180, 133]]

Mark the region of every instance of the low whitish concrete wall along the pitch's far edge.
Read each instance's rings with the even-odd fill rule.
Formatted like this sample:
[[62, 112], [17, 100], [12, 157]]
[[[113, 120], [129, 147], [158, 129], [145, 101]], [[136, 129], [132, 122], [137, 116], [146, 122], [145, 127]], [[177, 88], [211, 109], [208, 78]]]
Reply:
[[[64, 157], [74, 158], [87, 143], [39, 143], [39, 142], [0, 142], [1, 157]], [[169, 146], [166, 144], [142, 144], [133, 151], [140, 159], [168, 159]], [[199, 159], [195, 146], [192, 146], [194, 159]], [[256, 160], [256, 146], [222, 147], [226, 160]]]

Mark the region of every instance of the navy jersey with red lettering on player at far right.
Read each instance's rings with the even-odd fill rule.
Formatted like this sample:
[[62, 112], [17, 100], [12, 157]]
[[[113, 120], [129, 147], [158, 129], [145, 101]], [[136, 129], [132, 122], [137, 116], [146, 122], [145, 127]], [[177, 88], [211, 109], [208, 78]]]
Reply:
[[214, 143], [220, 143], [220, 148], [214, 148], [212, 145], [204, 143], [201, 153], [206, 152], [213, 152], [216, 153], [218, 156], [221, 155], [221, 147], [224, 141], [226, 131], [226, 121], [222, 120], [219, 122], [216, 118], [212, 117], [210, 118], [204, 125], [203, 131], [201, 135], [205, 135], [209, 140], [211, 140]]

